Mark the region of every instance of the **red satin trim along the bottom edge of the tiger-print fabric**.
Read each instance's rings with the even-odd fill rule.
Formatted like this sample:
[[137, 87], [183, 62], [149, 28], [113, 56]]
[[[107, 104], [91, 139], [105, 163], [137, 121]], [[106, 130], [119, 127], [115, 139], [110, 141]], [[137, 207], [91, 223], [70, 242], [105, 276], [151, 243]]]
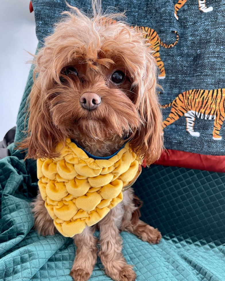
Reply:
[[163, 150], [160, 159], [154, 164], [225, 173], [225, 156], [203, 155], [172, 149], [167, 149], [167, 151]]

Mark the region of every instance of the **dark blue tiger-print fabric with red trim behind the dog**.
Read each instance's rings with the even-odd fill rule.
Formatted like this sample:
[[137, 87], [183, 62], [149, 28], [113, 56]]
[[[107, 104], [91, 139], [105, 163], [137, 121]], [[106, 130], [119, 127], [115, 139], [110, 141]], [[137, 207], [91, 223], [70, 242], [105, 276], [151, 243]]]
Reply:
[[[168, 152], [158, 164], [225, 172], [224, 1], [102, 0], [103, 11], [126, 10], [127, 23], [145, 31], [153, 48]], [[51, 0], [32, 3], [42, 44], [68, 8], [65, 1], [54, 9]], [[91, 1], [69, 4], [88, 11]]]

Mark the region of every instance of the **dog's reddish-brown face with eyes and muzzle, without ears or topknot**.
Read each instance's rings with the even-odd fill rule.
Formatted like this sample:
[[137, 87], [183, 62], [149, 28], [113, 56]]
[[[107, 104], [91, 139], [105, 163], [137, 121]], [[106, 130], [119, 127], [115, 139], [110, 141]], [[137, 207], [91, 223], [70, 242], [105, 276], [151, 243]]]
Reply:
[[129, 67], [113, 48], [100, 48], [76, 52], [48, 91], [54, 125], [72, 138], [79, 134], [104, 141], [130, 135], [141, 124]]

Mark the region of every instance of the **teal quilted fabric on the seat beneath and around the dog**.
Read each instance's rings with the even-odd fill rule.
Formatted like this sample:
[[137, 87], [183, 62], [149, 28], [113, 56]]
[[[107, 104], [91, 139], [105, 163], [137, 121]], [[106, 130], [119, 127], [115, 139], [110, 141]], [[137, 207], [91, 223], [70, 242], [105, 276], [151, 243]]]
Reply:
[[[32, 230], [29, 203], [37, 186], [29, 167], [17, 156], [0, 161], [0, 280], [72, 280], [72, 239], [42, 237]], [[163, 239], [150, 245], [121, 233], [136, 280], [224, 281], [224, 180], [224, 174], [184, 168], [143, 169], [135, 185], [144, 201], [142, 218], [159, 227]], [[90, 280], [111, 280], [99, 259]]]

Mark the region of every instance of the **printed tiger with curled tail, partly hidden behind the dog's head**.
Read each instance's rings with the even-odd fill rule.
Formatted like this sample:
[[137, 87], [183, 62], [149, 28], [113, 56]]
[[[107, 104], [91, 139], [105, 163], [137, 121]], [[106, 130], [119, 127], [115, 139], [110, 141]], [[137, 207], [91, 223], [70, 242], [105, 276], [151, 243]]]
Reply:
[[[115, 24], [116, 21], [113, 20], [113, 19], [110, 19], [110, 20], [108, 20], [108, 19], [104, 20], [103, 19], [103, 23], [105, 25]], [[174, 47], [178, 43], [178, 40], [179, 40], [178, 32], [173, 31], [176, 34], [176, 41], [174, 43], [165, 44], [160, 40], [157, 32], [152, 28], [144, 27], [144, 26], [131, 26], [131, 28], [134, 28], [136, 31], [142, 31], [143, 32], [143, 38], [146, 38], [146, 43], [149, 43], [151, 45], [151, 48], [154, 50], [153, 56], [156, 59], [158, 69], [160, 70], [160, 74], [159, 74], [158, 78], [164, 79], [166, 77], [166, 72], [165, 72], [164, 63], [160, 58], [159, 48], [160, 48], [160, 45], [163, 48], [167, 48], [167, 49]]]

